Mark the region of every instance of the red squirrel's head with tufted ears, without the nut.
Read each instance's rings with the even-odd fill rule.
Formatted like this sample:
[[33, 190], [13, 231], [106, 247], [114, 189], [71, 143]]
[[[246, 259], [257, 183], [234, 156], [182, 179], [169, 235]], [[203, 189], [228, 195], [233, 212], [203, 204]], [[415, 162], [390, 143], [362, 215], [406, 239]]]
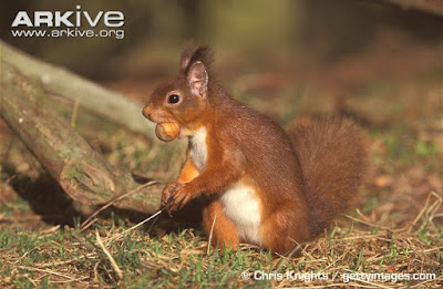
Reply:
[[212, 61], [208, 47], [185, 45], [177, 75], [154, 90], [143, 115], [154, 123], [177, 124], [182, 137], [190, 135], [202, 125], [209, 105]]

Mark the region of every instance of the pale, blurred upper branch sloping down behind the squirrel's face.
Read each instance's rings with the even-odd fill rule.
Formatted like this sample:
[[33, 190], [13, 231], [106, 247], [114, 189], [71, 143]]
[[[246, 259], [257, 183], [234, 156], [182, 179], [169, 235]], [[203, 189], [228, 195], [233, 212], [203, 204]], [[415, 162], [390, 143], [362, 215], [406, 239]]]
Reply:
[[143, 104], [106, 90], [68, 70], [39, 61], [0, 40], [1, 61], [16, 66], [24, 76], [39, 81], [45, 92], [71, 101], [135, 133], [155, 137], [155, 126], [142, 115]]

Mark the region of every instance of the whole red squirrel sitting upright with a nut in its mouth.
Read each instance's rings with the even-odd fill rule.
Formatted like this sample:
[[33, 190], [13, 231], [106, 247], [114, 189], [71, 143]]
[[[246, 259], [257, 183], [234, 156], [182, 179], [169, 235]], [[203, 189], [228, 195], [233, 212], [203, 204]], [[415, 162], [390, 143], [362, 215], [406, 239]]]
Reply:
[[346, 118], [302, 118], [286, 133], [231, 99], [212, 62], [208, 47], [186, 45], [177, 75], [143, 109], [157, 125], [176, 127], [167, 141], [188, 138], [186, 162], [162, 204], [173, 211], [206, 195], [203, 227], [213, 245], [291, 251], [350, 208], [368, 172], [368, 137]]

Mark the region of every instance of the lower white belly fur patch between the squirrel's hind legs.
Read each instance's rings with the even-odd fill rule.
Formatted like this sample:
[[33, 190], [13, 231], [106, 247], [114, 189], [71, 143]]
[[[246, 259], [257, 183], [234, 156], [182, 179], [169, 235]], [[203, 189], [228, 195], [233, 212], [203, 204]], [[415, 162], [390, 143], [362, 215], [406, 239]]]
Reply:
[[245, 185], [235, 184], [220, 198], [226, 216], [237, 227], [240, 240], [261, 245], [259, 225], [260, 204], [257, 193]]

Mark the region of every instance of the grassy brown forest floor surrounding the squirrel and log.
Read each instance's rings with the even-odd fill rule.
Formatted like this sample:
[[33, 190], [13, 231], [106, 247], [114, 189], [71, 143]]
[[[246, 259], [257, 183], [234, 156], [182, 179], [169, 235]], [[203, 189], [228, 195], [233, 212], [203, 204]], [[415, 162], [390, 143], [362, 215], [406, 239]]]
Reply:
[[[0, 287], [442, 287], [441, 52], [399, 41], [400, 51], [381, 38], [332, 63], [225, 79], [237, 99], [282, 126], [300, 115], [346, 115], [369, 131], [373, 168], [358, 209], [297, 257], [249, 245], [215, 250], [190, 211], [132, 228], [148, 216], [107, 209], [84, 229], [97, 208], [68, 199], [1, 124]], [[105, 85], [142, 102], [155, 81]], [[78, 130], [107, 161], [140, 175], [171, 180], [183, 161], [155, 161], [148, 140], [119, 127], [79, 121]]]

